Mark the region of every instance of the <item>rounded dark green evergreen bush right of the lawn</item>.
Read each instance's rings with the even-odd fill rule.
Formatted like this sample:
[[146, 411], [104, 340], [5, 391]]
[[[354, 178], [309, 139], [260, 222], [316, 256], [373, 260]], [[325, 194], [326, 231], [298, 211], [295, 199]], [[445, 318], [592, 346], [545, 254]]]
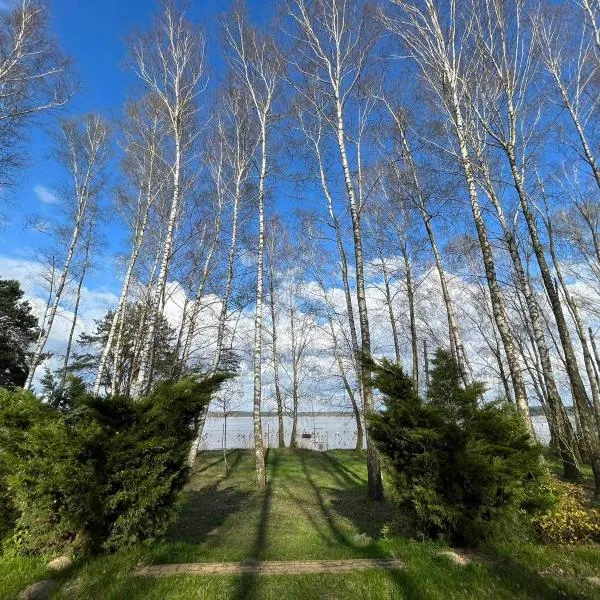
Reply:
[[427, 399], [400, 367], [373, 365], [385, 409], [369, 422], [386, 459], [400, 513], [413, 533], [475, 544], [545, 499], [541, 448], [507, 402], [483, 403], [438, 350]]

